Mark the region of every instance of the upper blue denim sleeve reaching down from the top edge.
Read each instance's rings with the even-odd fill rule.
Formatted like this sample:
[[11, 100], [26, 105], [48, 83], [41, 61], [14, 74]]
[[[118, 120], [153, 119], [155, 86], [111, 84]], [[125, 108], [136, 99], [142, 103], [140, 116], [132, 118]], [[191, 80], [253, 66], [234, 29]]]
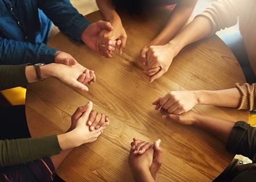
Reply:
[[81, 41], [82, 32], [90, 23], [68, 0], [38, 0], [38, 5], [61, 32], [75, 41]]

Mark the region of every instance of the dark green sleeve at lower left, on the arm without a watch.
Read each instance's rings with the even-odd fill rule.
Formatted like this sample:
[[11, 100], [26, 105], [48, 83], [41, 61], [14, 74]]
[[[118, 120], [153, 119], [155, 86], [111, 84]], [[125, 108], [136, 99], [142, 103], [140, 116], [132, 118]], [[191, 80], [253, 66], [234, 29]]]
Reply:
[[57, 136], [0, 140], [0, 167], [26, 163], [61, 151]]

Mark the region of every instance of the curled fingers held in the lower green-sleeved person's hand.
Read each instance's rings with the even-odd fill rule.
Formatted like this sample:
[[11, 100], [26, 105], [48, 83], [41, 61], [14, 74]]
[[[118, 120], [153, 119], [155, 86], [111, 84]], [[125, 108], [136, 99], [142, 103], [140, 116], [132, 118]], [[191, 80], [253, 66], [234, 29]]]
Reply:
[[90, 116], [87, 122], [87, 125], [90, 126], [90, 131], [97, 130], [101, 128], [101, 126], [109, 125], [109, 116], [106, 116], [101, 113], [97, 113], [96, 111], [90, 112]]

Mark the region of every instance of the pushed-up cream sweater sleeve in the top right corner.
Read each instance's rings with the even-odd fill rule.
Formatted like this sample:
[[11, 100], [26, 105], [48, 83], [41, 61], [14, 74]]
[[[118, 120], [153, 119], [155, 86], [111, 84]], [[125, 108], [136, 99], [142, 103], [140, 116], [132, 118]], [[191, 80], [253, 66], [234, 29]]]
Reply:
[[237, 24], [237, 17], [242, 14], [243, 7], [246, 2], [242, 0], [219, 0], [213, 2], [212, 6], [208, 7], [204, 12], [197, 15], [197, 17], [204, 16], [208, 18], [212, 24], [213, 35], [220, 29], [225, 29]]

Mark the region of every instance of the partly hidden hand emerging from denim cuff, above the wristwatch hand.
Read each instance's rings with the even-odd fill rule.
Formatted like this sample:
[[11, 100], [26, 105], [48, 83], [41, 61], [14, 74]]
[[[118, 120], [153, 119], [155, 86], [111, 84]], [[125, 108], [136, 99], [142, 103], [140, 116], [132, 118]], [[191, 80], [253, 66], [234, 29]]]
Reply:
[[77, 63], [76, 59], [71, 56], [71, 54], [57, 51], [54, 56], [55, 63], [64, 65], [75, 65]]

